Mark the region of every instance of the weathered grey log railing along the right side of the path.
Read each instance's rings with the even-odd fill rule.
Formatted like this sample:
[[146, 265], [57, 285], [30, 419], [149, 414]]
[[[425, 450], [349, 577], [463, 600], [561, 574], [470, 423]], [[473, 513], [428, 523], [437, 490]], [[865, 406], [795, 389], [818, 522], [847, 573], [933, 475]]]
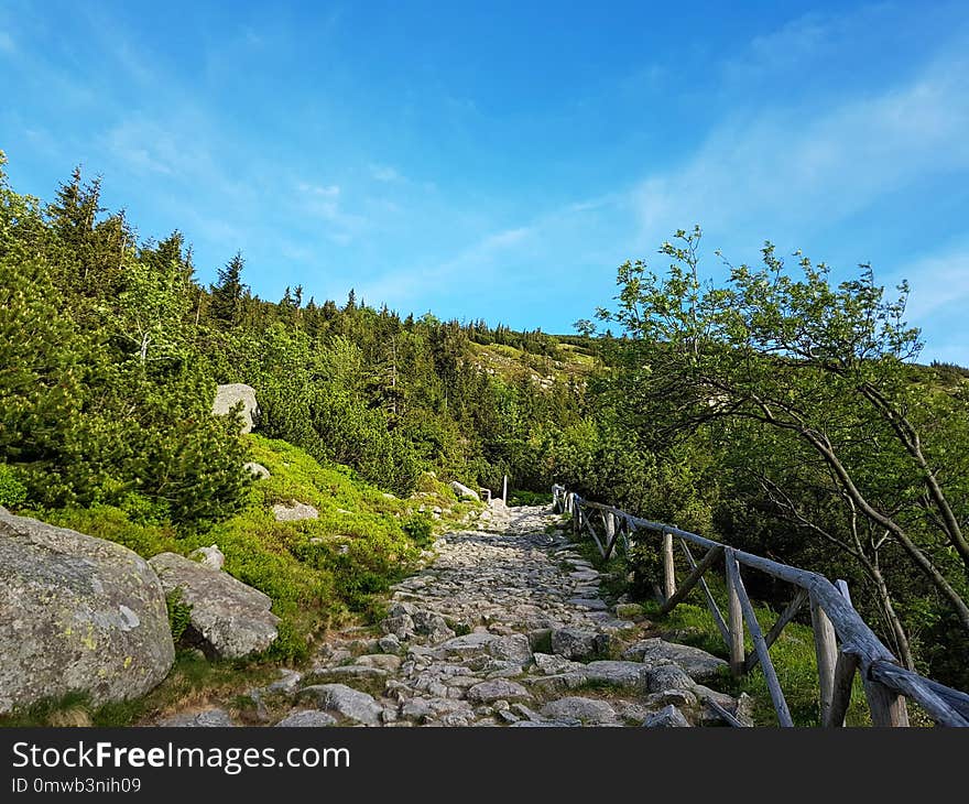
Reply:
[[[854, 610], [843, 580], [832, 584], [817, 573], [745, 553], [673, 525], [633, 517], [612, 506], [590, 502], [563, 486], [553, 486], [552, 495], [553, 510], [569, 513], [575, 535], [586, 533], [591, 536], [603, 559], [609, 558], [617, 544], [621, 543], [628, 551], [633, 536], [640, 532], [661, 535], [664, 576], [661, 613], [672, 611], [689, 591], [699, 587], [723, 637], [731, 671], [739, 675], [761, 665], [781, 726], [793, 726], [794, 722], [771, 662], [770, 648], [798, 610], [808, 605], [820, 686], [821, 725], [845, 725], [858, 672], [873, 726], [908, 726], [905, 702], [910, 698], [939, 726], [969, 727], [969, 695], [901, 666]], [[678, 587], [673, 559], [674, 539], [679, 541], [690, 568]], [[699, 561], [694, 557], [690, 545], [706, 551]], [[721, 561], [727, 586], [726, 618], [704, 580], [704, 575]], [[741, 567], [766, 573], [794, 586], [791, 602], [766, 634], [748, 597]], [[750, 656], [744, 654], [744, 626], [754, 647]]]

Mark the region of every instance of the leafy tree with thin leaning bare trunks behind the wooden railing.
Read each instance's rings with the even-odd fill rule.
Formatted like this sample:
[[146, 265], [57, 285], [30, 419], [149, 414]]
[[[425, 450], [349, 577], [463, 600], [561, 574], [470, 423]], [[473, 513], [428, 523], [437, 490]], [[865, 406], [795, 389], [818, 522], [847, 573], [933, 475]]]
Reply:
[[904, 320], [907, 287], [886, 301], [868, 265], [832, 286], [828, 267], [799, 253], [794, 278], [770, 243], [762, 268], [728, 265], [717, 287], [698, 278], [699, 229], [676, 239], [661, 249], [665, 278], [625, 263], [617, 308], [600, 311], [636, 341], [629, 351], [642, 368], [624, 390], [640, 424], [682, 437], [750, 421], [777, 434], [775, 449], [806, 447], [846, 515], [897, 544], [969, 630], [965, 497], [944, 490], [948, 461], [927, 452], [913, 413], [921, 343]]

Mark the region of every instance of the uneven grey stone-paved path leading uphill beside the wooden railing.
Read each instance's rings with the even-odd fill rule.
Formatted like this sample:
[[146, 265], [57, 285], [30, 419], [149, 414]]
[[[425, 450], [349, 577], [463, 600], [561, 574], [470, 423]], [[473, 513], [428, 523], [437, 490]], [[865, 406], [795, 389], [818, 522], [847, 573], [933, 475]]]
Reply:
[[[651, 637], [610, 608], [599, 574], [546, 508], [492, 507], [399, 584], [380, 635], [334, 635], [309, 672], [252, 691], [276, 726], [700, 726], [748, 700], [715, 692], [725, 663]], [[482, 523], [483, 526], [483, 523]], [[617, 610], [620, 617], [617, 613]], [[165, 725], [231, 725], [221, 709]]]

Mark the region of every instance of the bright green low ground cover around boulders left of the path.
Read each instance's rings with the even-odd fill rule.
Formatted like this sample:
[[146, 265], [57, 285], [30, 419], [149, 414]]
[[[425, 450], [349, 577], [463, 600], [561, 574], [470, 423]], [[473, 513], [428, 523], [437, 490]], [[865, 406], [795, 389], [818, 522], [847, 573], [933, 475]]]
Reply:
[[[128, 725], [175, 707], [226, 699], [275, 677], [280, 663], [298, 665], [305, 660], [313, 638], [327, 627], [379, 613], [380, 593], [420, 559], [427, 544], [431, 520], [424, 520], [421, 506], [443, 509], [438, 529], [456, 524], [472, 508], [456, 501], [445, 484], [429, 476], [414, 499], [401, 500], [345, 467], [320, 466], [285, 442], [248, 438], [251, 458], [271, 477], [254, 482], [244, 509], [207, 533], [178, 535], [170, 525], [133, 522], [112, 507], [22, 513], [118, 542], [146, 558], [218, 544], [226, 555], [225, 569], [272, 598], [281, 618], [272, 648], [246, 661], [213, 663], [179, 651], [168, 677], [140, 700], [96, 708], [85, 695], [70, 694], [0, 717], [0, 726]], [[276, 522], [272, 506], [291, 500], [314, 506], [319, 519]]]

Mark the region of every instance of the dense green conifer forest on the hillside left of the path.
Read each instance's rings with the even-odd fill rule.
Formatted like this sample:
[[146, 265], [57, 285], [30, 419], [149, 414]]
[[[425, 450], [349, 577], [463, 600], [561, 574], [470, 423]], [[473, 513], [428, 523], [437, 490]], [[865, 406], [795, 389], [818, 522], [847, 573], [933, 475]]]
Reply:
[[[530, 439], [577, 420], [580, 383], [490, 374], [471, 344], [559, 356], [552, 336], [401, 317], [304, 289], [259, 298], [241, 254], [205, 286], [174, 232], [139, 242], [76, 171], [50, 204], [0, 173], [0, 489], [32, 506], [113, 504], [182, 529], [240, 504], [243, 446], [209, 409], [257, 389], [260, 430], [406, 495], [424, 470], [544, 486]], [[0, 500], [3, 502], [4, 500]]]

